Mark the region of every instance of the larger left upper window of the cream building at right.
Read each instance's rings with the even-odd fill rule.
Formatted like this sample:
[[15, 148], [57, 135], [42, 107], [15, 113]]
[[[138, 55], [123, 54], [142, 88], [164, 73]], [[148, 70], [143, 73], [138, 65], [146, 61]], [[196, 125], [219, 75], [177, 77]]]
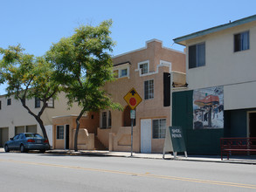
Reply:
[[205, 43], [189, 46], [189, 69], [205, 65]]

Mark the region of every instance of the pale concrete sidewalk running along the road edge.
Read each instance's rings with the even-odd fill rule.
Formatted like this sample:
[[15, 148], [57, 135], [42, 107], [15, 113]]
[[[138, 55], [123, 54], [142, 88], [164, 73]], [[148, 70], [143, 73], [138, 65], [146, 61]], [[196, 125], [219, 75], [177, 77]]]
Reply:
[[[3, 147], [0, 147], [0, 153], [4, 153]], [[48, 150], [45, 154], [64, 154], [64, 155], [88, 155], [88, 156], [113, 156], [113, 157], [124, 157], [124, 158], [142, 158], [142, 159], [158, 159], [163, 160], [163, 154], [140, 154], [133, 153], [131, 156], [130, 152], [115, 152], [115, 151], [95, 151], [95, 150], [79, 150], [74, 152], [73, 150]], [[204, 162], [219, 162], [219, 163], [241, 163], [241, 164], [253, 164], [256, 165], [256, 156], [230, 156], [230, 159], [227, 160], [224, 156], [224, 160], [221, 161], [220, 156], [218, 155], [190, 155], [184, 157], [183, 154], [178, 154], [176, 159], [172, 154], [165, 154], [164, 160], [166, 161], [204, 161]]]

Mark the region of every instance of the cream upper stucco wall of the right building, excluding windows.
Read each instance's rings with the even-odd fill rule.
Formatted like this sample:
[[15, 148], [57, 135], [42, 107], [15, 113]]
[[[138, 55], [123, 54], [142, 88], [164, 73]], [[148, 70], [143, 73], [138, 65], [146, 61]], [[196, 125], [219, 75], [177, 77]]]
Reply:
[[[250, 32], [250, 49], [234, 52], [234, 34], [243, 31]], [[204, 66], [189, 69], [187, 54], [189, 89], [224, 86], [225, 110], [255, 107], [256, 22], [194, 38], [187, 48], [201, 42], [205, 42]]]

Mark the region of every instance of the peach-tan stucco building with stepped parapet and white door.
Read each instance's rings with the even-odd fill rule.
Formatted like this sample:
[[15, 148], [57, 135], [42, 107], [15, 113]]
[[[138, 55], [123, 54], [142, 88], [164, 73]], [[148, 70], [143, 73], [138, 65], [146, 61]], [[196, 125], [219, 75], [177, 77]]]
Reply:
[[[81, 120], [79, 149], [93, 149], [100, 141], [110, 151], [130, 151], [130, 108], [123, 97], [132, 89], [142, 102], [135, 109], [133, 149], [163, 152], [165, 128], [170, 126], [170, 79], [185, 84], [185, 54], [163, 47], [157, 39], [146, 46], [113, 58], [116, 80], [104, 87], [123, 111], [87, 113]], [[170, 72], [172, 78], [170, 78]], [[75, 116], [53, 118], [53, 148], [73, 148]]]

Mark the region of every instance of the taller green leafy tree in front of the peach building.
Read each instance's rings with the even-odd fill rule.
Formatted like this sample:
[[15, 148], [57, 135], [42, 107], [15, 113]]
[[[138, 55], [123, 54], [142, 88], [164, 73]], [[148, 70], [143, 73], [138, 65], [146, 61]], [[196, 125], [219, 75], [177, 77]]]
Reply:
[[111, 25], [111, 20], [95, 27], [82, 25], [73, 36], [62, 38], [46, 53], [48, 61], [56, 67], [56, 79], [65, 85], [69, 106], [77, 102], [81, 108], [76, 119], [75, 151], [78, 151], [80, 118], [84, 113], [106, 108], [121, 109], [121, 105], [114, 103], [102, 88], [106, 82], [114, 80], [110, 55], [114, 42], [109, 37]]

